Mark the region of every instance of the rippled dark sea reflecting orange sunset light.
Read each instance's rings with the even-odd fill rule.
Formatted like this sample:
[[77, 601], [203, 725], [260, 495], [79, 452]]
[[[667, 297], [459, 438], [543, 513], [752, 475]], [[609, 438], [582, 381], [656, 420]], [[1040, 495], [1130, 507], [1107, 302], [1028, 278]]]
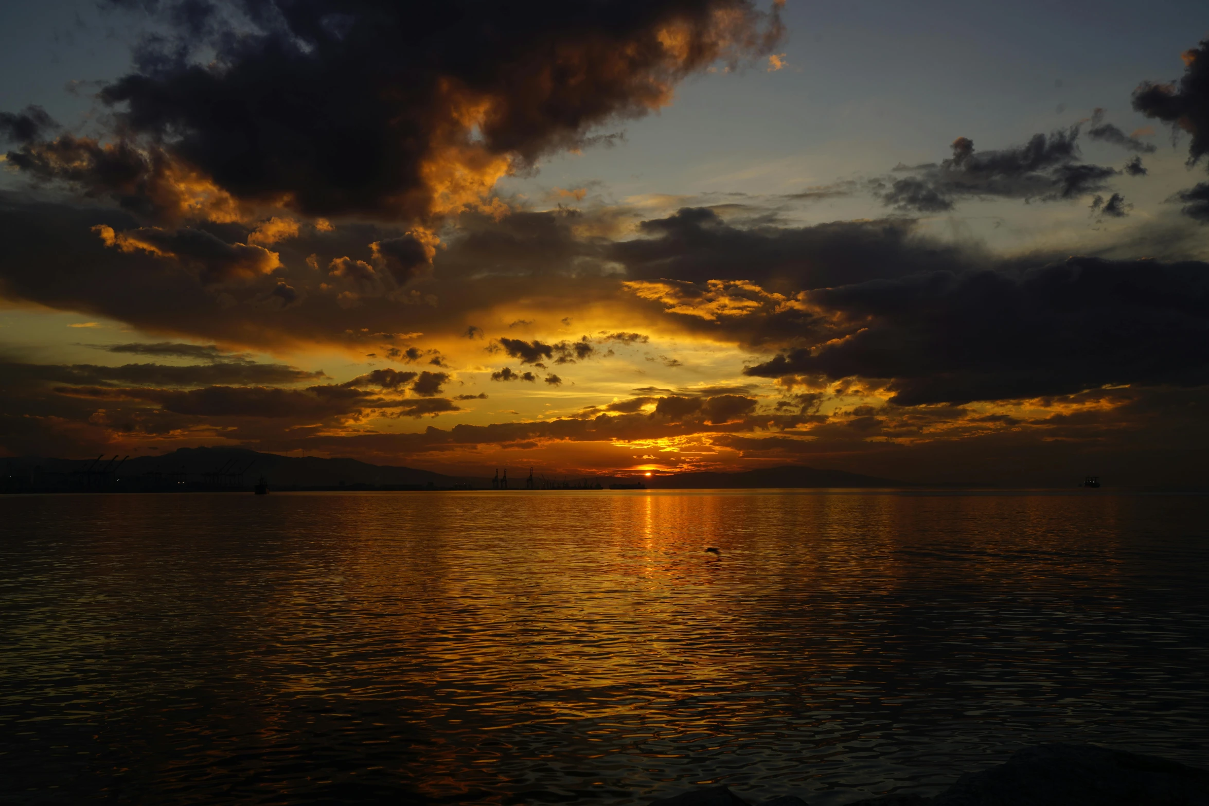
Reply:
[[1052, 740], [1207, 765], [1209, 498], [1100, 492], [4, 497], [0, 800], [839, 805]]

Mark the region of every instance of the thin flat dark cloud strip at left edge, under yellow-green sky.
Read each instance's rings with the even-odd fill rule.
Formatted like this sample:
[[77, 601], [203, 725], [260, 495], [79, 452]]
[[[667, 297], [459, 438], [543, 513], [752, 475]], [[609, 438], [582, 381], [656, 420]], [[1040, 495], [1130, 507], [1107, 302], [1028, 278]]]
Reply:
[[126, 364], [123, 366], [97, 366], [94, 364], [40, 365], [0, 364], [0, 377], [8, 383], [48, 381], [57, 383], [110, 385], [140, 384], [163, 387], [190, 387], [198, 384], [288, 384], [325, 377], [320, 372], [306, 372], [284, 364], [229, 363], [198, 364], [193, 366], [169, 366], [164, 364]]

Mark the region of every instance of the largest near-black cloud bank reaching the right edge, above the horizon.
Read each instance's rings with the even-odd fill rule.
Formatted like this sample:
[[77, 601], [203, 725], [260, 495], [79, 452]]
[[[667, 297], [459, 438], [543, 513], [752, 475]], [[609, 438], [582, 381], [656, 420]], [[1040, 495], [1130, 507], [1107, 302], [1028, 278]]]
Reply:
[[[746, 375], [884, 379], [901, 405], [1209, 383], [1209, 265], [1072, 257], [812, 291], [811, 347]], [[804, 334], [805, 336], [805, 334]]]

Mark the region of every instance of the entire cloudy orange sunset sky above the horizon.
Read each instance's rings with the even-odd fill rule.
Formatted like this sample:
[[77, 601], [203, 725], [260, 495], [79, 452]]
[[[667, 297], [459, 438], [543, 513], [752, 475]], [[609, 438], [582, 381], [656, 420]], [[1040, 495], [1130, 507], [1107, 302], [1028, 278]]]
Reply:
[[4, 17], [2, 456], [1207, 481], [1204, 2]]

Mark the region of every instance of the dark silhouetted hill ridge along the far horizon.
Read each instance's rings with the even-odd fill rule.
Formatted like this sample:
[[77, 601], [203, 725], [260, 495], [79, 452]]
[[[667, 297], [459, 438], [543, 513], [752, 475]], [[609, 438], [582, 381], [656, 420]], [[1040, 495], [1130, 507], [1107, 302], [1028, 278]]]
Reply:
[[[45, 479], [51, 475], [69, 477], [74, 472], [88, 468], [92, 459], [4, 459], [4, 474], [15, 477], [17, 474], [30, 474], [34, 468], [44, 479], [34, 487], [46, 487]], [[99, 464], [92, 464], [96, 470], [109, 464], [109, 454]], [[117, 464], [109, 465], [116, 469]], [[509, 468], [513, 489], [525, 486], [528, 468]], [[468, 486], [472, 488], [490, 488], [490, 477], [450, 476], [429, 470], [417, 470], [395, 465], [376, 465], [358, 459], [326, 459], [322, 457], [291, 457], [279, 453], [261, 453], [247, 448], [201, 447], [178, 448], [164, 456], [144, 456], [126, 460], [116, 474], [122, 486], [147, 476], [161, 474], [164, 477], [184, 477], [190, 483], [203, 483], [206, 479], [216, 479], [215, 474], [242, 475], [238, 485], [229, 480], [229, 486], [249, 487], [256, 479], [265, 476], [270, 487], [288, 488], [340, 488], [340, 487], [428, 487], [452, 488]], [[805, 487], [906, 487], [913, 486], [892, 479], [864, 476], [843, 470], [818, 470], [803, 465], [785, 465], [780, 468], [760, 468], [741, 472], [682, 472], [661, 476], [598, 476], [604, 486], [611, 482], [642, 481], [652, 489], [707, 489], [707, 488], [805, 488]], [[215, 482], [216, 483], [216, 482]]]

